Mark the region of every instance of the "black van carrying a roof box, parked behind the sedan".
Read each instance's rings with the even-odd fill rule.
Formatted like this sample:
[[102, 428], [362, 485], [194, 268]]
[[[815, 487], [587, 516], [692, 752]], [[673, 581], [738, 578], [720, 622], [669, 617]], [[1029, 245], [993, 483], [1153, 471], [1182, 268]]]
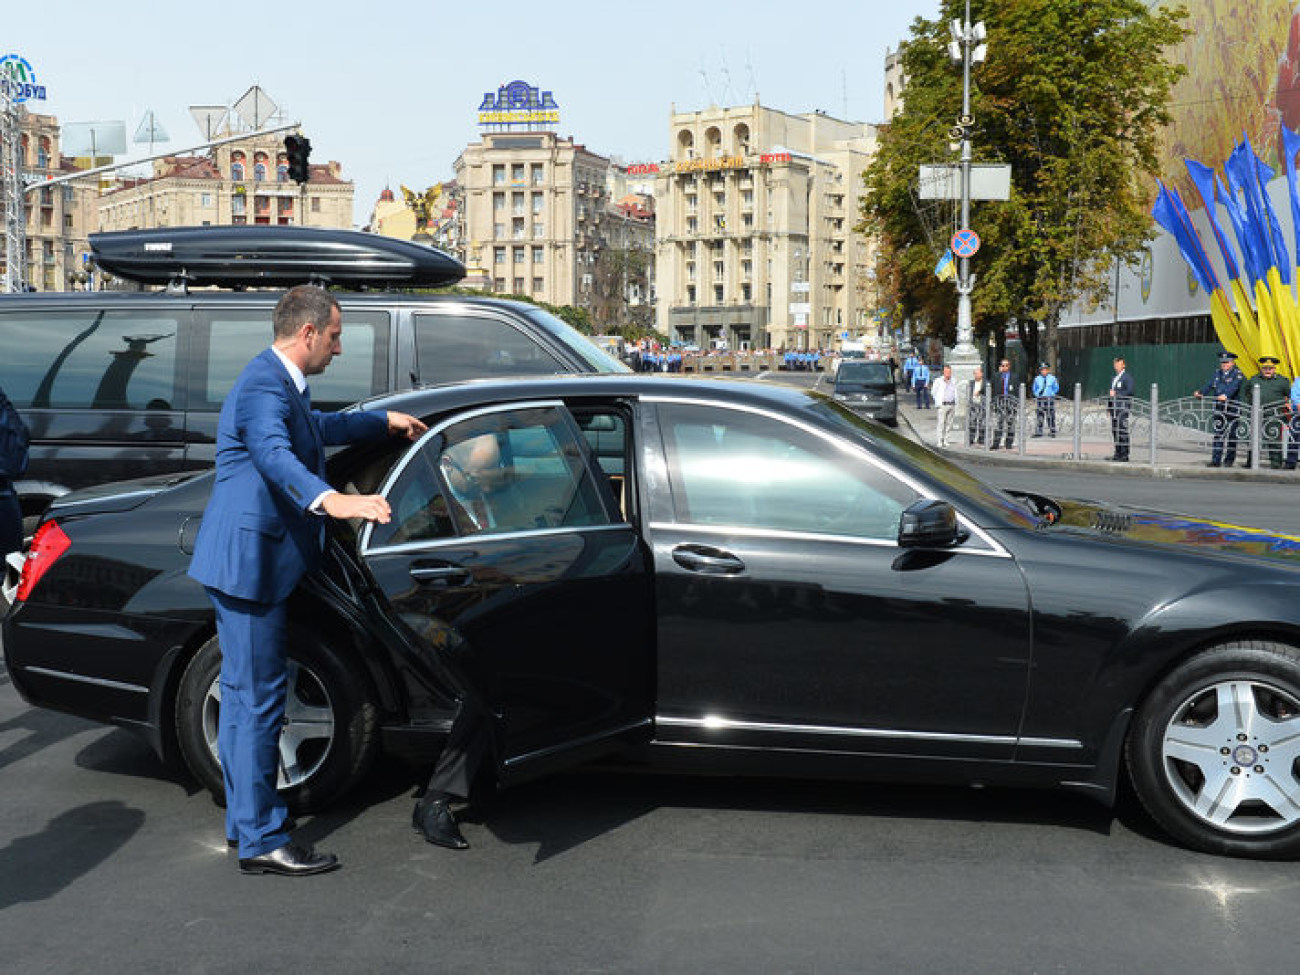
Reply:
[[[25, 523], [56, 497], [107, 481], [211, 467], [217, 413], [270, 343], [282, 291], [454, 283], [455, 259], [422, 244], [304, 228], [182, 228], [91, 237], [100, 266], [161, 291], [0, 295], [0, 387], [31, 432], [16, 482]], [[429, 268], [434, 268], [430, 273]], [[474, 377], [627, 372], [581, 333], [521, 302], [338, 291], [343, 355], [312, 403]]]

